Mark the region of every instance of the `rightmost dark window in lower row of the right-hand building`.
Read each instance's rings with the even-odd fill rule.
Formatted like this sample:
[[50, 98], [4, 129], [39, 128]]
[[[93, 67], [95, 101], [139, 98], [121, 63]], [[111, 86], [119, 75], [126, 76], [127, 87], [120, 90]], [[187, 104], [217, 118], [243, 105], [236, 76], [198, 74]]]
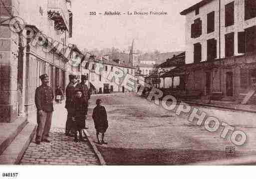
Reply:
[[245, 29], [245, 52], [255, 52], [256, 49], [256, 26]]

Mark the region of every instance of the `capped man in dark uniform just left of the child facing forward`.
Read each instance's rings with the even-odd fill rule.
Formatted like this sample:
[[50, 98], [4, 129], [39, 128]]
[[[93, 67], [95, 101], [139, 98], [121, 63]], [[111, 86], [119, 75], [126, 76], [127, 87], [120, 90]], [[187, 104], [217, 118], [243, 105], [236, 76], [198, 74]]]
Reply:
[[66, 104], [65, 108], [67, 109], [67, 121], [66, 121], [66, 136], [70, 136], [71, 132], [71, 124], [72, 124], [72, 102], [75, 97], [75, 89], [77, 85], [77, 76], [76, 75], [69, 75], [69, 84], [66, 87]]

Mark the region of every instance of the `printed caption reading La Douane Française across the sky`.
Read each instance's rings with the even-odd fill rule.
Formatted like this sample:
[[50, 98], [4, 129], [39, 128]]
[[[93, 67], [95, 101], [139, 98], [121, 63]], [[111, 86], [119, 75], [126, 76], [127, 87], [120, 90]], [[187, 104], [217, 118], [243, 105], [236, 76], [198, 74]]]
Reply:
[[[96, 12], [90, 12], [90, 15], [96, 15]], [[168, 12], [164, 11], [105, 11], [104, 13], [98, 13], [99, 15], [168, 15]]]

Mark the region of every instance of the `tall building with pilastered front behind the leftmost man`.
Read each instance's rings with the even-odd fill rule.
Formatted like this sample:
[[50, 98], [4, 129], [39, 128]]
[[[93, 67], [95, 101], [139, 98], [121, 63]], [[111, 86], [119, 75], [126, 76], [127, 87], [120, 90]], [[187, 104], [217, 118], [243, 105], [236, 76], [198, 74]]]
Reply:
[[[66, 85], [64, 46], [71, 35], [70, 7], [70, 0], [1, 1], [0, 15], [6, 21], [0, 26], [0, 121], [34, 111], [34, 92], [42, 73], [49, 75], [53, 89]], [[13, 28], [17, 19], [19, 28]]]

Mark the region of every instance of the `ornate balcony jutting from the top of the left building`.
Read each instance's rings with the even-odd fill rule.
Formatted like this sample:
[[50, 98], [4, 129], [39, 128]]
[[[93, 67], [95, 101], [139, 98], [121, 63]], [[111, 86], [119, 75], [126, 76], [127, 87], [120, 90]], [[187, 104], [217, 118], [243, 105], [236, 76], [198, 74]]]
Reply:
[[69, 27], [69, 12], [66, 0], [47, 0], [48, 17], [55, 21], [55, 28], [67, 30]]

